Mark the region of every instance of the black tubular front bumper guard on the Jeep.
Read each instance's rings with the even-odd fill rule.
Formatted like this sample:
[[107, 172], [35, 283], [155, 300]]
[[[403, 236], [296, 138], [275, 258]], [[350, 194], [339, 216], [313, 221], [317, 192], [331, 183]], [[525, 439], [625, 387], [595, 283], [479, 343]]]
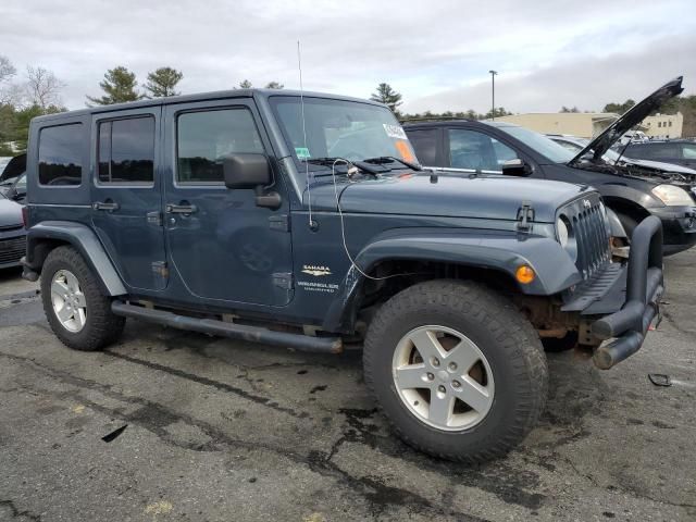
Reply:
[[658, 314], [659, 299], [664, 291], [662, 225], [658, 217], [646, 217], [633, 231], [629, 263], [624, 270], [626, 284], [623, 307], [592, 325], [595, 337], [614, 338], [595, 351], [593, 360], [601, 370], [608, 370], [638, 351], [650, 323]]

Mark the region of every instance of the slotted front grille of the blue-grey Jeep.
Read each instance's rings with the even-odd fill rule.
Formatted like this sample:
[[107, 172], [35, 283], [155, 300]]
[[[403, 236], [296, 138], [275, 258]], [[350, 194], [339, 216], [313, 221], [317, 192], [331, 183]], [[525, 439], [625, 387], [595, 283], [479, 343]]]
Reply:
[[598, 195], [588, 195], [567, 206], [561, 214], [571, 224], [577, 258], [575, 266], [588, 279], [611, 258], [609, 231]]

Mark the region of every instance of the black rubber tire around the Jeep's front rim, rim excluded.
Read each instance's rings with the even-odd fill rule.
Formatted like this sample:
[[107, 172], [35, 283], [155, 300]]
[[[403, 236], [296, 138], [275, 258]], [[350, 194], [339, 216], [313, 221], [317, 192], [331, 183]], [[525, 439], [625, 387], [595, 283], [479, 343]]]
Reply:
[[[397, 344], [413, 328], [431, 324], [461, 332], [489, 362], [493, 405], [471, 428], [451, 432], [425, 424], [396, 389]], [[510, 300], [473, 282], [421, 283], [389, 299], [368, 330], [363, 366], [365, 383], [397, 435], [443, 459], [474, 463], [504, 456], [532, 431], [546, 405], [548, 368], [538, 335]]]

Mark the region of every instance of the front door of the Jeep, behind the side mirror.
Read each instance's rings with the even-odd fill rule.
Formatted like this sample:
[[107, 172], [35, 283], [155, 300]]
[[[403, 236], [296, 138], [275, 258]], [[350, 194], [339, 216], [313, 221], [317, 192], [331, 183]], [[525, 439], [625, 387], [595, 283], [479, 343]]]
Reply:
[[165, 108], [165, 150], [171, 162], [164, 187], [166, 238], [171, 269], [190, 300], [284, 306], [291, 298], [284, 181], [275, 172], [272, 189], [282, 202], [273, 210], [257, 206], [253, 189], [224, 185], [226, 156], [272, 156], [261, 128], [250, 99]]

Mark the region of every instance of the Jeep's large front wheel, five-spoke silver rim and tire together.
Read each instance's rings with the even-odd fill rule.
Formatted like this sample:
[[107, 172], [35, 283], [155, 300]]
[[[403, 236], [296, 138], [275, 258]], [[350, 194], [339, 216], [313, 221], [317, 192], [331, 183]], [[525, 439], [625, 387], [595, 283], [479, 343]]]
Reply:
[[363, 364], [396, 433], [450, 460], [505, 455], [546, 402], [538, 336], [510, 301], [474, 283], [435, 281], [397, 294], [370, 325]]

